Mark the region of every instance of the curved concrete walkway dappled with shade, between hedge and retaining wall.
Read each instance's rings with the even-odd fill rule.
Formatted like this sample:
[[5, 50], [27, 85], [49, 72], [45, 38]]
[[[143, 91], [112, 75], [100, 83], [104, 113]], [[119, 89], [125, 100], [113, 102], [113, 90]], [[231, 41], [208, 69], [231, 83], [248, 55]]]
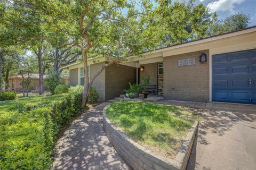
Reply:
[[82, 114], [57, 143], [53, 169], [130, 169], [110, 144], [100, 104]]

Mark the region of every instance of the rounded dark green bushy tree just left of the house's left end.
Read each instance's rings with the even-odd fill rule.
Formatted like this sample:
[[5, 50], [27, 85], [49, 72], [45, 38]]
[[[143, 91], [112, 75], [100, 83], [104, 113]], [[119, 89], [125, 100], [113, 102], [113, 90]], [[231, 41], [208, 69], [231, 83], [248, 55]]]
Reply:
[[51, 92], [52, 95], [54, 95], [54, 90], [59, 84], [64, 84], [64, 82], [60, 78], [60, 73], [54, 71], [50, 71], [47, 75], [47, 78], [44, 79], [44, 81], [45, 86]]

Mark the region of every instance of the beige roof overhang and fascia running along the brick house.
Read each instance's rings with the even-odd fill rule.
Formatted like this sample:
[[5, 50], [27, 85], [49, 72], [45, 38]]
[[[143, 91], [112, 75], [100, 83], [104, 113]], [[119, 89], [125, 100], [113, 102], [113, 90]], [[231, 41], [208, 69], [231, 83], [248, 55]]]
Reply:
[[[251, 35], [251, 33], [254, 33], [254, 34]], [[246, 39], [246, 40], [243, 41], [243, 39]], [[247, 41], [249, 43], [247, 43]], [[212, 54], [218, 53], [218, 52], [225, 53], [225, 50], [226, 50], [225, 46], [229, 46], [229, 50], [230, 50], [230, 46], [233, 46], [235, 48], [236, 46], [239, 46], [241, 43], [244, 43], [244, 47], [240, 47], [240, 48], [249, 49], [249, 48], [255, 47], [254, 44], [250, 43], [254, 41], [256, 41], [256, 25], [253, 27], [242, 29], [242, 30], [227, 32], [220, 35], [197, 39], [197, 40], [189, 41], [189, 42], [178, 44], [178, 45], [172, 45], [169, 47], [158, 48], [151, 52], [142, 53], [142, 56], [140, 57], [130, 56], [130, 57], [127, 57], [126, 61], [123, 61], [120, 64], [139, 67], [140, 64], [162, 62], [163, 57], [196, 52], [198, 50], [205, 50], [205, 49], [211, 49]], [[109, 58], [99, 56], [97, 58], [96, 63], [104, 62], [104, 61], [108, 62]], [[95, 58], [89, 58], [88, 63], [89, 65], [94, 64]], [[62, 69], [75, 68], [82, 65], [83, 65], [83, 62], [73, 63], [65, 67], [62, 67]]]

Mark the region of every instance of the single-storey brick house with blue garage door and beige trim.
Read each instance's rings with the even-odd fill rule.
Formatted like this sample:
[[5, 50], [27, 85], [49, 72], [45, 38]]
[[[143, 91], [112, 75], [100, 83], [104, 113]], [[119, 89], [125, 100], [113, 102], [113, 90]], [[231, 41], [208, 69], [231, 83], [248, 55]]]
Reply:
[[[88, 62], [92, 77], [107, 60]], [[83, 63], [64, 68], [69, 69], [70, 85], [83, 84]], [[143, 53], [107, 67], [93, 86], [100, 99], [107, 100], [124, 94], [128, 82], [142, 83], [147, 75], [165, 99], [256, 104], [256, 27]]]

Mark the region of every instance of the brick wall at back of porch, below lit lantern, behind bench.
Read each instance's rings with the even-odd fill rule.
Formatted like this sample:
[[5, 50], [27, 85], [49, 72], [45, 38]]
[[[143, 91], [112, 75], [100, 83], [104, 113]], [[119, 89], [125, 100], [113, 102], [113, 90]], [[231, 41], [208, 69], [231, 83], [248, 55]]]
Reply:
[[[143, 85], [143, 77], [147, 78], [150, 76], [150, 84], [155, 84], [157, 87], [157, 63], [142, 64], [145, 68], [144, 72], [140, 72], [140, 83]], [[140, 66], [142, 66], [140, 65]], [[156, 89], [157, 91], [157, 89]]]

